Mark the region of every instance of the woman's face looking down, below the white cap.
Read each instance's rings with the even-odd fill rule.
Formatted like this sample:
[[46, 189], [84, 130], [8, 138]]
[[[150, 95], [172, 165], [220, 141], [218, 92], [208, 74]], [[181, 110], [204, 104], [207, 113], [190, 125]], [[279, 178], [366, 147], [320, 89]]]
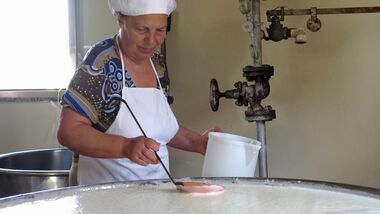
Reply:
[[125, 54], [136, 60], [150, 58], [165, 40], [167, 19], [164, 14], [119, 17]]

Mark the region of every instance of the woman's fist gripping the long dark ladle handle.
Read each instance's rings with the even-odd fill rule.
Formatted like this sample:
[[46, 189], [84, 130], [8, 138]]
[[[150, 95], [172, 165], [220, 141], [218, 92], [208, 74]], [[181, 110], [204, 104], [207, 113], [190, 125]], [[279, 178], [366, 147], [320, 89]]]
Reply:
[[159, 163], [154, 153], [160, 149], [159, 143], [143, 136], [129, 138], [128, 141], [123, 148], [123, 153], [131, 161], [143, 166]]

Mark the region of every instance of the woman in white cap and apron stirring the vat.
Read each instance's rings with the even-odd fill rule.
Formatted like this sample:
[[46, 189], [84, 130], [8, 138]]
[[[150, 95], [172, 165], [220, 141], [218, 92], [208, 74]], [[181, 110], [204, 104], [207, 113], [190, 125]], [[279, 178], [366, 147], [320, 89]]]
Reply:
[[[155, 52], [175, 0], [109, 0], [119, 33], [95, 44], [63, 96], [59, 142], [80, 154], [79, 184], [167, 178], [166, 144], [204, 154], [207, 134], [178, 125], [158, 78]], [[147, 137], [143, 137], [124, 99]]]

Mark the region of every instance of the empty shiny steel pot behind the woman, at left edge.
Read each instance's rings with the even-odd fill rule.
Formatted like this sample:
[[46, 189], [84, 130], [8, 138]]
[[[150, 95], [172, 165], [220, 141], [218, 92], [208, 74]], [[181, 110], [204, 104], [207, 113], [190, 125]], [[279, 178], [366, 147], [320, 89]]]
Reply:
[[0, 197], [67, 187], [71, 160], [64, 148], [0, 155]]

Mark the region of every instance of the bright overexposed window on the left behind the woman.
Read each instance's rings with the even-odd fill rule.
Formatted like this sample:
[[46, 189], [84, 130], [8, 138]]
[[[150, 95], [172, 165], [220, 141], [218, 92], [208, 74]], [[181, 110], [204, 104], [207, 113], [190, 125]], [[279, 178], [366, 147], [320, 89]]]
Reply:
[[69, 1], [0, 2], [0, 90], [67, 87], [75, 70]]

